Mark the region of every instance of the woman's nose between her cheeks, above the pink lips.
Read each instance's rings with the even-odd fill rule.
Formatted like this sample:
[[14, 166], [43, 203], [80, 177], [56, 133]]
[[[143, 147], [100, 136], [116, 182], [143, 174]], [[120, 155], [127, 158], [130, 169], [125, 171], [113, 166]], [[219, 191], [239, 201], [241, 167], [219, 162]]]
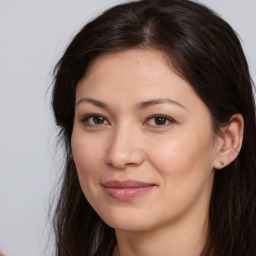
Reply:
[[112, 132], [106, 154], [108, 165], [117, 169], [136, 167], [143, 163], [141, 134], [131, 127], [120, 127]]

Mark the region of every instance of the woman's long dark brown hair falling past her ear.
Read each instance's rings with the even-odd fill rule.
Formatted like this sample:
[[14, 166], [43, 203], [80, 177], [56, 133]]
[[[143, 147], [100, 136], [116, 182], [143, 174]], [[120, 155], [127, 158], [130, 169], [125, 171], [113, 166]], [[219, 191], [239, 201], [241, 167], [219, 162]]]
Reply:
[[253, 84], [233, 29], [203, 5], [189, 0], [145, 0], [115, 6], [74, 37], [55, 69], [52, 106], [66, 159], [54, 218], [56, 255], [108, 256], [114, 230], [95, 213], [79, 185], [71, 151], [75, 90], [97, 56], [129, 48], [152, 48], [169, 58], [209, 108], [214, 129], [242, 114], [242, 149], [216, 170], [204, 256], [252, 255], [256, 240], [256, 121]]

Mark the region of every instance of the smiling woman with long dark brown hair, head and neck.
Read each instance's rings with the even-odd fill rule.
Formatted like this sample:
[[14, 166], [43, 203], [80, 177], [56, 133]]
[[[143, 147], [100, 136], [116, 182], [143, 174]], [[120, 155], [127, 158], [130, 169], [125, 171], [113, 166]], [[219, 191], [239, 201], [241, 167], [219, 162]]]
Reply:
[[111, 8], [56, 66], [57, 255], [254, 255], [252, 82], [232, 28], [188, 0]]

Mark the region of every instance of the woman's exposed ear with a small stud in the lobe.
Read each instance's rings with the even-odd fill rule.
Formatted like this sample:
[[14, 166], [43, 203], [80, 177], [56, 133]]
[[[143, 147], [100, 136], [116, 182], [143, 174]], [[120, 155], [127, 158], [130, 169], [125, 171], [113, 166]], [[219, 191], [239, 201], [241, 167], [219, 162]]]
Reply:
[[221, 127], [218, 135], [215, 169], [222, 169], [233, 162], [239, 154], [243, 142], [244, 119], [241, 114], [231, 116], [227, 125]]

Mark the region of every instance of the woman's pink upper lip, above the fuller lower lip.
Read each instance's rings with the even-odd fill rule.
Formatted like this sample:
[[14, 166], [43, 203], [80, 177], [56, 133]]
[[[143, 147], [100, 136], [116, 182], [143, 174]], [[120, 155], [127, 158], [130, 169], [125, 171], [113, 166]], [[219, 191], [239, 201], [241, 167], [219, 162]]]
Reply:
[[110, 180], [102, 184], [106, 188], [142, 188], [154, 186], [152, 183], [145, 183], [137, 180]]

